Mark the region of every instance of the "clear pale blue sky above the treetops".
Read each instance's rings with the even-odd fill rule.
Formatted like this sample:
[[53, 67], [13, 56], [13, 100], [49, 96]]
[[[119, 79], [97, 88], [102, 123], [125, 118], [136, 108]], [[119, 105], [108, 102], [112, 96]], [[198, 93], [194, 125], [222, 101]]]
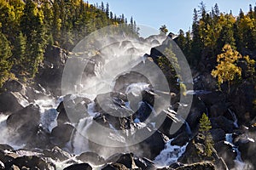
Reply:
[[[137, 21], [137, 24], [151, 26], [159, 29], [160, 26], [166, 25], [169, 31], [177, 33], [179, 29], [188, 31], [192, 24], [193, 10], [198, 8], [201, 0], [88, 0], [89, 3], [103, 2], [109, 3], [110, 10], [118, 16], [125, 14], [130, 20], [131, 16]], [[249, 4], [253, 7], [255, 0], [204, 0], [207, 10], [211, 10], [215, 3], [221, 12], [232, 13], [237, 15], [240, 8], [247, 12]]]

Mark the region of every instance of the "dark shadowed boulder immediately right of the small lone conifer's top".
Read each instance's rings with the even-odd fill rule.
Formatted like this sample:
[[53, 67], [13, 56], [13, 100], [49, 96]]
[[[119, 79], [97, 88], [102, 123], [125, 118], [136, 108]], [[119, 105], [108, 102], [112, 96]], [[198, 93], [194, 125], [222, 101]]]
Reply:
[[234, 129], [234, 122], [230, 121], [224, 116], [210, 118], [212, 128], [221, 128], [225, 133], [232, 133]]

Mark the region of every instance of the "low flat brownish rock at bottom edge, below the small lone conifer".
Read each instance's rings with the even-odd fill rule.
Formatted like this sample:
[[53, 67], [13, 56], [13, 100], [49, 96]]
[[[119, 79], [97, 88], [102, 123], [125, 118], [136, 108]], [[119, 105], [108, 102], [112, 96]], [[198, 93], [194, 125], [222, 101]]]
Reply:
[[176, 170], [215, 170], [215, 167], [212, 163], [209, 162], [200, 162], [183, 167], [177, 167]]

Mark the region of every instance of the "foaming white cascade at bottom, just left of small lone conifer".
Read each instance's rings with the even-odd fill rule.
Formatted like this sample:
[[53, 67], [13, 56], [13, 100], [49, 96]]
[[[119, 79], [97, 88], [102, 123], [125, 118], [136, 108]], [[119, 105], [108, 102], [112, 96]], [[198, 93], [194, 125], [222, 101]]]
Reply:
[[160, 152], [159, 156], [156, 156], [154, 159], [154, 164], [157, 167], [168, 167], [172, 163], [177, 162], [177, 159], [183, 155], [186, 150], [187, 144], [183, 146], [172, 145], [172, 140], [169, 140], [166, 143], [165, 150]]

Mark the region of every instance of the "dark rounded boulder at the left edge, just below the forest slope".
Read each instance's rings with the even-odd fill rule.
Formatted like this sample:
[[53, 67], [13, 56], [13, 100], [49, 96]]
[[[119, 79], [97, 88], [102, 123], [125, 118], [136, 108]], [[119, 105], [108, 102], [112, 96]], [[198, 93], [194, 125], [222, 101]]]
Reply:
[[15, 112], [23, 108], [19, 99], [13, 92], [5, 92], [0, 94], [0, 112]]

